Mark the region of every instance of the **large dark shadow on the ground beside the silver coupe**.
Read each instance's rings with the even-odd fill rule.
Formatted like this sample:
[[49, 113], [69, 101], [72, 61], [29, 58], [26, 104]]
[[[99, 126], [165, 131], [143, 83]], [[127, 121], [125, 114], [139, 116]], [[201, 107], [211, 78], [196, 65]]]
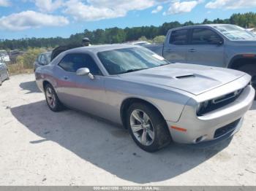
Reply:
[[171, 144], [159, 152], [148, 153], [135, 145], [127, 130], [89, 114], [68, 109], [54, 113], [45, 101], [17, 106], [11, 112], [26, 128], [42, 137], [30, 144], [54, 141], [110, 174], [139, 184], [183, 174], [225, 149], [231, 141], [200, 149]]

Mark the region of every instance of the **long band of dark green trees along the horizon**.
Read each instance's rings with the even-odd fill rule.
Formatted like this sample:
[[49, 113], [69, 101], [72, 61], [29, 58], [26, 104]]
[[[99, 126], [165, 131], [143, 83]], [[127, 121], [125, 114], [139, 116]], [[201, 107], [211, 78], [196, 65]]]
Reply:
[[[132, 28], [106, 28], [94, 31], [85, 30], [83, 33], [72, 34], [69, 38], [26, 38], [26, 39], [0, 39], [0, 49], [27, 50], [29, 47], [57, 47], [63, 44], [80, 44], [84, 37], [91, 39], [92, 44], [113, 44], [140, 39], [156, 39], [157, 36], [165, 36], [171, 28], [192, 26], [198, 24], [226, 23], [244, 28], [256, 27], [256, 13], [233, 14], [228, 19], [203, 20], [203, 23], [179, 23], [178, 21], [163, 23], [162, 26], [141, 26]], [[144, 37], [145, 36], [145, 37]], [[159, 38], [158, 38], [159, 39]], [[160, 38], [162, 39], [162, 38]], [[153, 41], [154, 42], [154, 41]]]

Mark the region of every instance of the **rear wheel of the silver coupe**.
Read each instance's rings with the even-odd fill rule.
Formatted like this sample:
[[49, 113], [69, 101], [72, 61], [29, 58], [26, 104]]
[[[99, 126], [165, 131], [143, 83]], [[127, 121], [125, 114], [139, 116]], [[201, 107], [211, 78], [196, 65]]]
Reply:
[[64, 109], [61, 101], [59, 101], [56, 91], [50, 84], [45, 85], [45, 100], [48, 104], [48, 107], [53, 112], [61, 112]]

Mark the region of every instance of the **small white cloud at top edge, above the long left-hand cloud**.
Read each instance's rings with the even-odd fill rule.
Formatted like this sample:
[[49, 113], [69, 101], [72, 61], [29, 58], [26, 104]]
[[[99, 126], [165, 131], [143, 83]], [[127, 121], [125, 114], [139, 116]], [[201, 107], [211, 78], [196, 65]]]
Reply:
[[63, 5], [61, 0], [34, 0], [35, 5], [39, 8], [42, 12], [53, 12], [56, 9], [59, 9]]

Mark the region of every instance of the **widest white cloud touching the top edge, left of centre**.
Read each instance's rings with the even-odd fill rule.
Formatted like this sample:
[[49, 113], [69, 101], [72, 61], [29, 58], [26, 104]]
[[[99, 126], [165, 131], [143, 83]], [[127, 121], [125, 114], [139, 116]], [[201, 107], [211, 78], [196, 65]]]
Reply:
[[65, 3], [64, 13], [72, 15], [75, 20], [102, 20], [124, 17], [131, 10], [147, 9], [155, 4], [156, 0], [88, 0], [88, 4], [69, 0]]

